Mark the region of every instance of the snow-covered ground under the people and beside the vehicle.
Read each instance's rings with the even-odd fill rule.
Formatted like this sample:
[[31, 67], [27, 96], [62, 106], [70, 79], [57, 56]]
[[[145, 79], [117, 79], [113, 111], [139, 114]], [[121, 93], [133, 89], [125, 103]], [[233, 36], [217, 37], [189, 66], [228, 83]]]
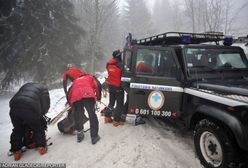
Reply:
[[[62, 89], [50, 91], [51, 107], [48, 116], [52, 117], [65, 105]], [[99, 119], [101, 140], [91, 144], [89, 131], [81, 143], [75, 135], [63, 135], [57, 125], [49, 125], [47, 137], [51, 137], [48, 153], [40, 156], [35, 149], [27, 150], [22, 158], [15, 162], [8, 157], [9, 136], [12, 124], [9, 118], [8, 102], [11, 96], [0, 97], [0, 163], [66, 163], [66, 167], [87, 168], [200, 168], [195, 156], [192, 133], [180, 131], [175, 126], [164, 124], [152, 118], [146, 124], [134, 126], [134, 116], [128, 116], [124, 126], [113, 127]], [[102, 100], [108, 103], [108, 98]], [[103, 109], [103, 104], [99, 104]], [[89, 123], [85, 124], [85, 129]]]

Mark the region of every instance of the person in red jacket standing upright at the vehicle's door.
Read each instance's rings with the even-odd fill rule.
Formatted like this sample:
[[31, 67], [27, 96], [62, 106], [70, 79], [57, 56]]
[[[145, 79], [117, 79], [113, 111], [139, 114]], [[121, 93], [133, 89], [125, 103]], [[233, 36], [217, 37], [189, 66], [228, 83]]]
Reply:
[[[107, 71], [108, 71], [108, 85], [109, 85], [109, 105], [110, 109], [114, 108], [116, 102], [116, 108], [114, 109], [113, 115], [113, 126], [117, 127], [119, 125], [123, 125], [124, 122], [121, 120], [121, 115], [123, 111], [123, 103], [124, 103], [124, 90], [121, 87], [121, 52], [120, 50], [116, 50], [112, 54], [113, 58], [111, 58], [107, 63]], [[112, 122], [112, 112], [106, 111], [105, 113], [105, 123]]]

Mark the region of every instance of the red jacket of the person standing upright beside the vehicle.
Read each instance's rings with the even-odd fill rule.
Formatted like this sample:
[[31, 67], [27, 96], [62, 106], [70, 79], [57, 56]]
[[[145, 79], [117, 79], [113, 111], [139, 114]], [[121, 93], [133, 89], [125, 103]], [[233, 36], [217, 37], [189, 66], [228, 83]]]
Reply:
[[116, 59], [111, 58], [107, 63], [108, 71], [108, 84], [112, 86], [121, 86], [121, 72], [122, 68], [119, 67]]

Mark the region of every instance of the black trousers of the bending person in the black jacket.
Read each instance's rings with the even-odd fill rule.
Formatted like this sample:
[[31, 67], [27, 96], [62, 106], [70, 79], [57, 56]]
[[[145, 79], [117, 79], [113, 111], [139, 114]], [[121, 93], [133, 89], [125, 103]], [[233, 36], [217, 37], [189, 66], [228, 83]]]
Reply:
[[47, 127], [42, 116], [31, 109], [10, 109], [10, 119], [14, 127], [10, 135], [10, 151], [18, 151], [22, 148], [27, 126], [35, 134], [36, 146], [46, 146], [45, 130]]

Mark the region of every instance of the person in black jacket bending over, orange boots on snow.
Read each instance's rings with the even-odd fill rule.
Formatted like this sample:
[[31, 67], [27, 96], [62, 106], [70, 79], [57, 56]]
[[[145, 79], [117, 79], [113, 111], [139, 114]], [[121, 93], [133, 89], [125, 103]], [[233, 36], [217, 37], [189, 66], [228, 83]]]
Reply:
[[43, 115], [50, 108], [50, 98], [47, 87], [38, 83], [24, 84], [9, 102], [10, 118], [13, 124], [10, 136], [10, 151], [14, 153], [14, 160], [22, 156], [23, 139], [27, 127], [34, 134], [32, 147], [37, 147], [40, 155], [47, 151], [45, 130], [47, 123]]

